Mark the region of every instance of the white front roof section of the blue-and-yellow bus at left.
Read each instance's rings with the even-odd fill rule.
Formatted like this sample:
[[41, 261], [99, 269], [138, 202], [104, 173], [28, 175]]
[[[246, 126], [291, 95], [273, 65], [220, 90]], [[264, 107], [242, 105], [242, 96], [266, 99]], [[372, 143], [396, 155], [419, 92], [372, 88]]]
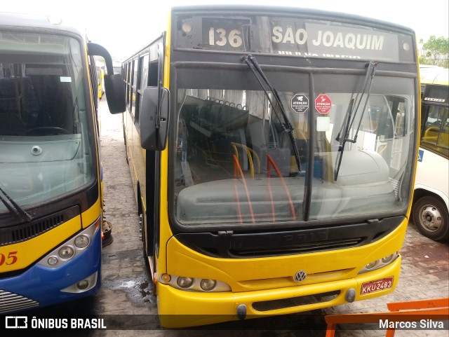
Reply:
[[83, 36], [79, 29], [69, 25], [59, 17], [50, 15], [0, 12], [0, 29], [4, 30], [6, 27], [24, 31], [27, 29], [51, 29]]

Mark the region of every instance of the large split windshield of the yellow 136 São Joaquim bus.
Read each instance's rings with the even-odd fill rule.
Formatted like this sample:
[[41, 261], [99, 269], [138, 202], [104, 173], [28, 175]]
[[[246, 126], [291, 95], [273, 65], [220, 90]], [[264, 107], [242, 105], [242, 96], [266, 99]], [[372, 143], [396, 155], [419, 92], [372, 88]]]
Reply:
[[[301, 170], [273, 92], [266, 94], [248, 67], [180, 67], [173, 139], [177, 220], [187, 226], [239, 225], [404, 212], [410, 200], [406, 167], [414, 146], [414, 78], [377, 72], [368, 95], [366, 70], [314, 74], [262, 67], [293, 124]], [[362, 103], [351, 115], [354, 101]], [[347, 125], [351, 142], [342, 155]]]

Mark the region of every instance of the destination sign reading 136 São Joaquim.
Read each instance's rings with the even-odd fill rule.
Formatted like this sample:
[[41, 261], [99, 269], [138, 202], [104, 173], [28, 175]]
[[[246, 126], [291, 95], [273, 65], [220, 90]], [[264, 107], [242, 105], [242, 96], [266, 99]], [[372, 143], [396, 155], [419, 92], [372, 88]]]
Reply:
[[188, 16], [177, 18], [175, 48], [414, 61], [411, 35], [304, 18]]

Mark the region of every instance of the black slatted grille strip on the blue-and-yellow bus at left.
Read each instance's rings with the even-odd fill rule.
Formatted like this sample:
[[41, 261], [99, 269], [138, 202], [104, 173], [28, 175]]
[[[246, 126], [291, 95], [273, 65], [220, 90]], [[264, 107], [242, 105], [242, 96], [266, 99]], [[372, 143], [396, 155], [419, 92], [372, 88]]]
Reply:
[[79, 207], [74, 206], [27, 223], [0, 228], [0, 247], [32, 239], [60, 226], [76, 215], [79, 215]]

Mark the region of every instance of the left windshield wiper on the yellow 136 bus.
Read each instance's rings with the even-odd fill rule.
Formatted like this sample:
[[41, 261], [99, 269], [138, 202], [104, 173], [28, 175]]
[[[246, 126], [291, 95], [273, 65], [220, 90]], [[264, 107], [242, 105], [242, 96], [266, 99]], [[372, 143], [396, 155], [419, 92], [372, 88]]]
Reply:
[[[251, 55], [251, 54], [243, 55], [240, 57], [240, 60], [243, 62], [246, 62], [246, 64], [248, 64], [248, 67], [250, 67], [250, 69], [253, 71], [253, 74], [254, 74], [255, 78], [257, 79], [257, 82], [259, 82], [260, 86], [262, 87], [262, 90], [264, 90], [265, 96], [267, 96], [269, 103], [272, 105], [274, 114], [276, 114], [276, 117], [278, 118], [279, 123], [281, 123], [283, 131], [288, 132], [288, 138], [290, 139], [290, 143], [292, 144], [292, 147], [293, 147], [293, 152], [295, 154], [297, 168], [298, 168], [298, 170], [300, 170], [300, 172], [302, 172], [301, 162], [300, 162], [300, 153], [297, 149], [295, 137], [293, 137], [293, 130], [295, 130], [295, 128], [293, 128], [292, 123], [290, 123], [290, 120], [288, 119], [288, 116], [286, 114], [286, 109], [284, 109], [283, 104], [281, 102], [281, 97], [279, 97], [279, 92], [276, 90], [276, 88], [273, 88], [272, 85], [269, 83], [267, 76], [265, 76], [264, 71], [260, 68], [260, 65], [257, 63], [257, 60], [255, 60], [255, 57], [253, 57], [253, 55]], [[279, 109], [281, 109], [283, 123], [281, 122], [281, 119], [279, 118], [279, 116], [277, 114], [277, 111], [276, 111], [276, 108], [274, 107], [272, 98], [268, 94], [267, 89], [265, 88], [262, 81], [260, 81], [260, 78], [259, 78], [259, 76], [257, 76], [257, 74], [259, 74], [259, 76], [262, 77], [264, 83], [267, 85], [269, 90], [273, 93], [273, 96], [276, 99]]]

